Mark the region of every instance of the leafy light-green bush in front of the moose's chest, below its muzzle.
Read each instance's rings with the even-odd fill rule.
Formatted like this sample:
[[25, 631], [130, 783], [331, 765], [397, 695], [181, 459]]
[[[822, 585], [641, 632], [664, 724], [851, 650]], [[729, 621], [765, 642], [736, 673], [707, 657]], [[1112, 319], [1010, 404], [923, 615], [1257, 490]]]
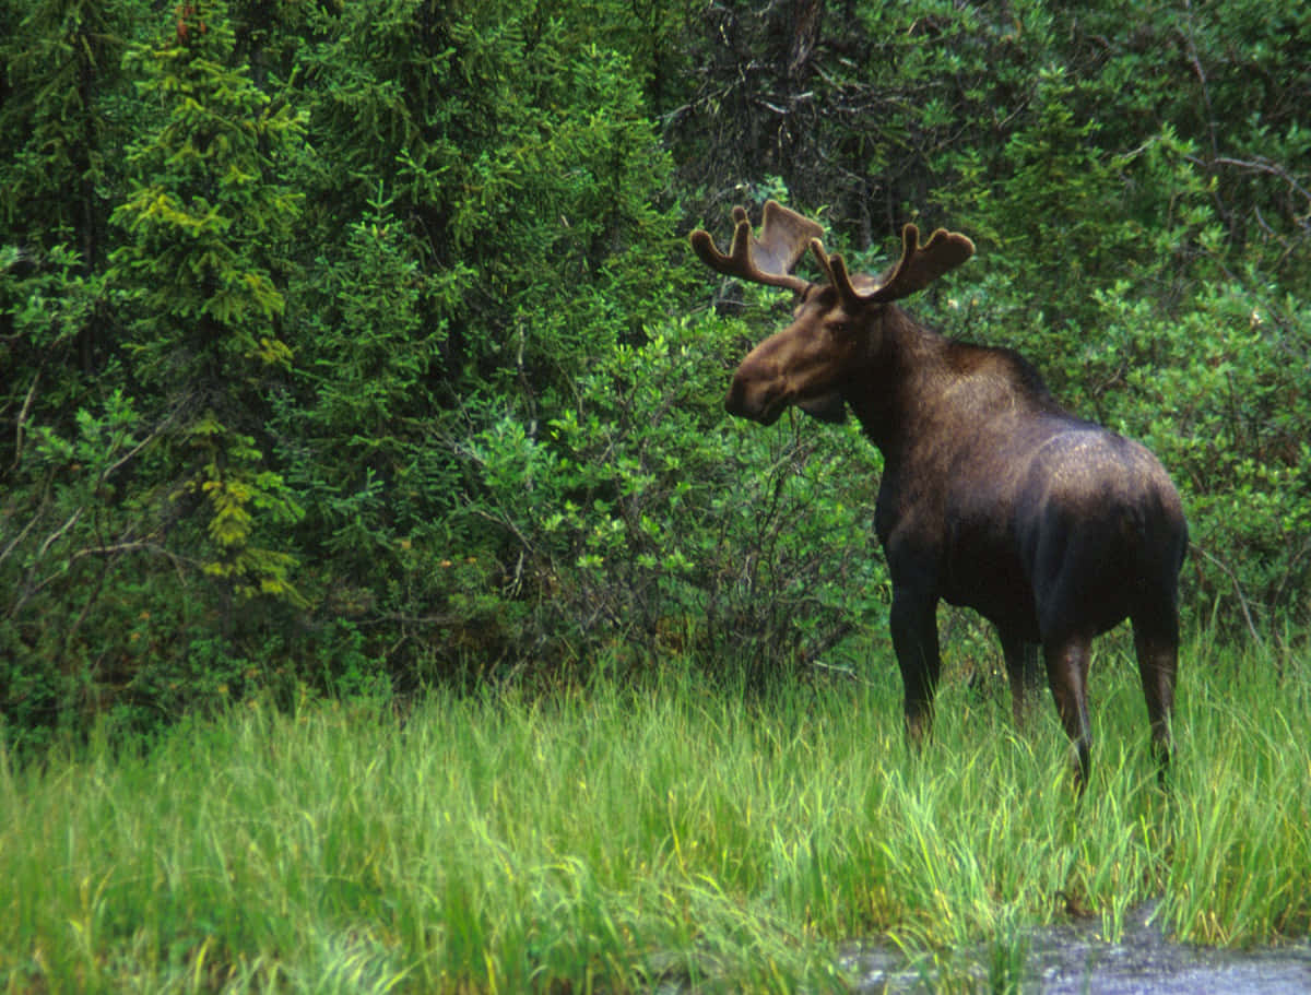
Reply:
[[540, 437], [506, 418], [465, 447], [471, 511], [513, 537], [534, 628], [572, 662], [691, 654], [764, 679], [882, 614], [874, 455], [855, 429], [725, 426], [741, 330], [670, 322], [595, 363]]

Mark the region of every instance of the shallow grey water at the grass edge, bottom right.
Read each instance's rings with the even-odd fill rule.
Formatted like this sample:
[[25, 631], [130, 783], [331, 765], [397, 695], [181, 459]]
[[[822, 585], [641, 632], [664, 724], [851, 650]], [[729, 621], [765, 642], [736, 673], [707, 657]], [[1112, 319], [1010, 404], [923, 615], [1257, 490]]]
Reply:
[[[1100, 923], [1072, 923], [1024, 933], [1028, 953], [1020, 987], [1044, 995], [1307, 995], [1311, 945], [1235, 952], [1188, 946], [1151, 924], [1151, 906], [1135, 910], [1120, 943], [1099, 939]], [[969, 975], [987, 986], [988, 954], [966, 957]], [[855, 991], [927, 992], [933, 978], [895, 948], [863, 944], [846, 952], [842, 966], [856, 977]]]

